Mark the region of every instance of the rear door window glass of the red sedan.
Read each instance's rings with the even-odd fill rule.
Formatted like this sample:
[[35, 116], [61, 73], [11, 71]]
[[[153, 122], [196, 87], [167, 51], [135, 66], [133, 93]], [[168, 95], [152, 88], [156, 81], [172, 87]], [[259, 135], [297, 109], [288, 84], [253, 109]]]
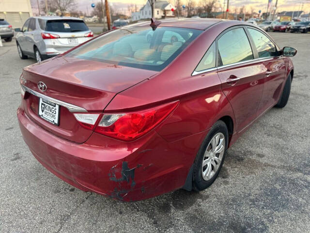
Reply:
[[218, 39], [219, 66], [253, 59], [248, 36], [243, 28], [228, 31]]

